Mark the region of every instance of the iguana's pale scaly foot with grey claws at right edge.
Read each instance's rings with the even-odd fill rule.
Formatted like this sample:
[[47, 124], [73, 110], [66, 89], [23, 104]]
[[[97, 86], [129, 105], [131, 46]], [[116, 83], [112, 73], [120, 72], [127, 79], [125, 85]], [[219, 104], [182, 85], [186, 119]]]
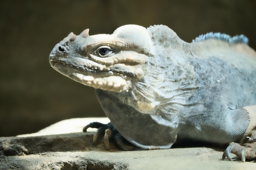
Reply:
[[247, 137], [248, 141], [243, 144], [243, 146], [237, 143], [230, 144], [224, 151], [222, 159], [227, 157], [232, 161], [230, 153], [234, 153], [236, 156], [240, 157], [242, 162], [245, 162], [245, 159], [256, 159], [256, 137], [254, 137], [254, 135], [252, 135], [252, 137]]

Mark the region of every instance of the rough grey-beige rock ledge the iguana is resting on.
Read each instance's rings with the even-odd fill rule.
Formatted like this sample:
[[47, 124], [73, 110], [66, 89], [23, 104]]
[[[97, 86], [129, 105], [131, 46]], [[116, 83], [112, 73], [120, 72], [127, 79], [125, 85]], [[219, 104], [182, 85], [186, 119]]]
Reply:
[[[73, 125], [77, 125], [76, 122], [79, 121], [81, 120], [69, 120]], [[61, 123], [50, 127], [58, 129], [58, 125]], [[227, 159], [222, 160], [222, 152], [225, 150], [223, 147], [183, 146], [166, 150], [121, 151], [111, 144], [110, 151], [107, 151], [103, 140], [98, 146], [92, 145], [94, 133], [0, 137], [0, 170], [252, 170], [256, 168], [256, 161], [242, 163], [239, 159], [234, 159], [232, 162]]]

